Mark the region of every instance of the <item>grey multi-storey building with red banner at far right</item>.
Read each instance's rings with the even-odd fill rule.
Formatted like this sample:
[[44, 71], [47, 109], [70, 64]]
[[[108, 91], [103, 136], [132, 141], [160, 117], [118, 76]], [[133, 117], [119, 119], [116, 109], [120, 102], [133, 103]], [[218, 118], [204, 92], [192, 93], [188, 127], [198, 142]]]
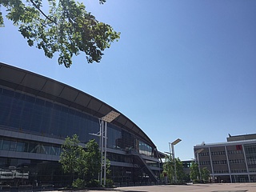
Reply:
[[199, 167], [210, 170], [212, 182], [256, 182], [256, 134], [226, 139], [194, 146]]

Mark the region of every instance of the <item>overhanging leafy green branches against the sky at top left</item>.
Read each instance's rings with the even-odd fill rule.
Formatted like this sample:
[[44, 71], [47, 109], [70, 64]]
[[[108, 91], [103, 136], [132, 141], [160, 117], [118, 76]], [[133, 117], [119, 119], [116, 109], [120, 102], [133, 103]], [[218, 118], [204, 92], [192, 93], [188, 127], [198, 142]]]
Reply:
[[[36, 44], [48, 58], [58, 52], [60, 65], [70, 67], [71, 58], [80, 52], [86, 54], [87, 62], [100, 62], [103, 51], [120, 37], [110, 25], [87, 12], [83, 3], [48, 0], [48, 5], [42, 0], [0, 0], [0, 8], [6, 7], [6, 18], [18, 26], [28, 45]], [[48, 10], [47, 14], [43, 10]], [[1, 10], [0, 26], [4, 26]]]

